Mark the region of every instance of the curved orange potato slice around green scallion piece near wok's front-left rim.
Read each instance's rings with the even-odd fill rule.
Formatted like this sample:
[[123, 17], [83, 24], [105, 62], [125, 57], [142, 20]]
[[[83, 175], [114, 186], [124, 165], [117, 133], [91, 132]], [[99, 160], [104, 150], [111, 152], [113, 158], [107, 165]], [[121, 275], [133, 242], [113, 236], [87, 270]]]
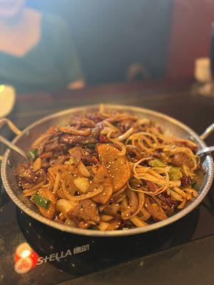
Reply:
[[51, 190], [49, 190], [47, 188], [41, 188], [38, 191], [38, 195], [40, 195], [41, 197], [44, 197], [46, 199], [49, 199], [51, 201], [51, 203], [49, 204], [49, 207], [47, 209], [45, 209], [44, 207], [41, 207], [37, 204], [36, 204], [36, 206], [38, 207], [39, 211], [41, 212], [41, 214], [43, 214], [44, 217], [46, 217], [47, 219], [53, 219], [54, 215], [55, 215], [55, 211], [56, 211], [56, 197], [51, 192]]

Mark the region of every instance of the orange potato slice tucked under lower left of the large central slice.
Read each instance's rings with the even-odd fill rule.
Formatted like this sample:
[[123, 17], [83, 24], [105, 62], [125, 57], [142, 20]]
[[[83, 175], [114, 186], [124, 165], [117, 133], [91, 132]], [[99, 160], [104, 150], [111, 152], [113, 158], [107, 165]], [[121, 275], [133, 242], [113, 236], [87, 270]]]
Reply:
[[108, 201], [111, 199], [111, 195], [113, 193], [113, 184], [104, 165], [101, 165], [98, 168], [98, 171], [91, 182], [89, 191], [93, 191], [100, 185], [103, 186], [103, 191], [100, 194], [91, 197], [91, 199], [99, 204], [108, 204]]

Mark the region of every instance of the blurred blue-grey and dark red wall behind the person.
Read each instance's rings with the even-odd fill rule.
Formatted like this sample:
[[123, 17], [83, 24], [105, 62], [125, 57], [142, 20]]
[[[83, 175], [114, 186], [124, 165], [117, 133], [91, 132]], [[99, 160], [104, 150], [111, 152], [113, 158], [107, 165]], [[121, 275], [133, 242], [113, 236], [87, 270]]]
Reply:
[[195, 58], [209, 55], [213, 0], [28, 0], [27, 5], [66, 21], [87, 84], [126, 81], [133, 63], [143, 66], [143, 80], [193, 77]]

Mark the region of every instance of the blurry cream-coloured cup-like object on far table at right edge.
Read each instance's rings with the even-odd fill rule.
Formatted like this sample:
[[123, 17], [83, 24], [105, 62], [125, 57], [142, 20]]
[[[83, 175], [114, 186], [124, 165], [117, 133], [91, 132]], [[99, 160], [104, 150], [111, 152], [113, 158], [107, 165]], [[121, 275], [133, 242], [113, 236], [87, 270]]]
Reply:
[[210, 58], [197, 58], [195, 60], [195, 79], [200, 82], [211, 81]]

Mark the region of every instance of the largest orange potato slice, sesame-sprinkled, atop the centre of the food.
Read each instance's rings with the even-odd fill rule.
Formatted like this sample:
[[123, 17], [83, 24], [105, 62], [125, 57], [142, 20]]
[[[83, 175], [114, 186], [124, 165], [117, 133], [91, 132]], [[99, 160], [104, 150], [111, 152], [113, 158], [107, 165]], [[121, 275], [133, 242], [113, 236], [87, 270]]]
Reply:
[[118, 155], [119, 150], [108, 143], [98, 144], [97, 150], [101, 162], [110, 173], [113, 181], [113, 192], [121, 190], [131, 175], [128, 160], [125, 156]]

